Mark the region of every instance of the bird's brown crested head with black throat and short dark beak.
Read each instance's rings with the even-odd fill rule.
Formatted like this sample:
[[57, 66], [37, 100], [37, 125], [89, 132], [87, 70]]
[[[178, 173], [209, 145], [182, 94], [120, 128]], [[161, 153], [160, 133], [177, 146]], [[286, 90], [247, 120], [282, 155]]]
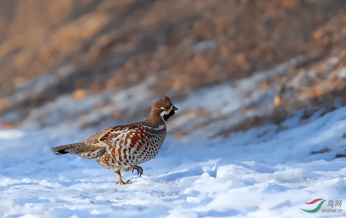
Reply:
[[178, 110], [178, 108], [172, 104], [168, 96], [163, 95], [160, 99], [154, 102], [152, 114], [160, 116], [166, 122], [175, 114], [174, 111], [176, 110]]

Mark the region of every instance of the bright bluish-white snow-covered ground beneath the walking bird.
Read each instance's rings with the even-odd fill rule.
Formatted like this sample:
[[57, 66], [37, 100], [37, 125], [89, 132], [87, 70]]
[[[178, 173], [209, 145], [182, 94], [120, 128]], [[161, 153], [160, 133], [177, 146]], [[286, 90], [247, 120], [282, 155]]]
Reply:
[[[184, 108], [193, 98], [208, 100], [193, 96], [173, 103]], [[180, 111], [174, 128], [185, 125]], [[227, 125], [210, 123], [180, 138], [170, 134], [159, 155], [140, 165], [142, 177], [123, 174], [136, 181], [125, 186], [95, 161], [49, 151], [99, 129], [57, 122], [40, 130], [0, 130], [0, 217], [345, 217], [346, 158], [335, 155], [346, 152], [346, 107], [312, 116], [306, 125], [292, 117], [281, 130], [269, 125], [217, 136]], [[311, 154], [325, 148], [329, 152]], [[300, 209], [315, 208], [318, 203], [305, 202], [317, 198], [327, 200], [319, 211]], [[344, 212], [322, 212], [331, 208], [329, 200], [342, 200], [337, 209]]]

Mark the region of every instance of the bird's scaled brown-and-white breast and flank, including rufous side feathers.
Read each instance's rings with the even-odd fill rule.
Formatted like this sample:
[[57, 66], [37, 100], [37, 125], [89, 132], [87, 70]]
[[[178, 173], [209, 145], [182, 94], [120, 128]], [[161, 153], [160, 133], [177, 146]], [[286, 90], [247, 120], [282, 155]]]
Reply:
[[161, 149], [166, 126], [153, 128], [139, 123], [117, 126], [103, 133], [99, 141], [108, 145], [99, 163], [106, 168], [128, 168], [151, 160]]

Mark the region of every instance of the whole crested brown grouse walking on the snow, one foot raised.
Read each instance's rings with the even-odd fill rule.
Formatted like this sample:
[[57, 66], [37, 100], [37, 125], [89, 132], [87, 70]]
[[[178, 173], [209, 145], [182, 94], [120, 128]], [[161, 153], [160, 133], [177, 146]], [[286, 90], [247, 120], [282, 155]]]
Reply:
[[54, 147], [56, 155], [72, 153], [83, 158], [97, 160], [107, 169], [114, 169], [121, 185], [132, 182], [122, 181], [120, 172], [137, 170], [138, 166], [153, 159], [160, 151], [166, 138], [166, 121], [174, 115], [176, 107], [167, 96], [157, 100], [149, 117], [140, 122], [120, 125], [101, 130], [83, 142]]

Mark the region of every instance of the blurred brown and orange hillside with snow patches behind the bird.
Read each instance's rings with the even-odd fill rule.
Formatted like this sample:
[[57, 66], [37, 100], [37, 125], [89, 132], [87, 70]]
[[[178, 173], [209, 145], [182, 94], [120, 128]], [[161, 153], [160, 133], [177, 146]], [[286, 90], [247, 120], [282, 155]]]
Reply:
[[284, 129], [346, 105], [345, 58], [345, 0], [1, 0], [1, 127], [134, 121], [161, 93], [186, 105], [227, 85], [249, 100], [190, 101], [174, 134], [239, 115], [221, 136]]

